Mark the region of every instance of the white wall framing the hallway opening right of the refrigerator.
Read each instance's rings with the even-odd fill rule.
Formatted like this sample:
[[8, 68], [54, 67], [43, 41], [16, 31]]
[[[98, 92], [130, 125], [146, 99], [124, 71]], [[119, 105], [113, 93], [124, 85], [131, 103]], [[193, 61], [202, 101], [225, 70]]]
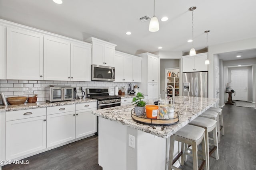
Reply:
[[256, 38], [244, 39], [239, 41], [233, 41], [228, 43], [222, 43], [218, 45], [211, 45], [208, 48], [208, 59], [210, 64], [208, 65], [208, 97], [214, 97], [214, 54], [226, 53], [231, 51], [239, 51], [246, 49], [256, 48]]

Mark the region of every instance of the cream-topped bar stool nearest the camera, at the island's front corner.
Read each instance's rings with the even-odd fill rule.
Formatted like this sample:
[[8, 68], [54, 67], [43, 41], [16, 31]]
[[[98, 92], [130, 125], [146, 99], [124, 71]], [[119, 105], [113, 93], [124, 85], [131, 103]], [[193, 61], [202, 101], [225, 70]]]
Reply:
[[[206, 150], [204, 132], [205, 130], [202, 127], [186, 125], [170, 137], [170, 147], [171, 147], [170, 166], [172, 169], [180, 170], [180, 168], [173, 166], [174, 141], [178, 141], [182, 143], [182, 154], [188, 154], [190, 156], [193, 156], [193, 169], [198, 170], [198, 153], [197, 153], [198, 145], [202, 143], [202, 154], [203, 154], [204, 160], [207, 159], [207, 154], [209, 154], [207, 153], [207, 150]], [[184, 148], [185, 144], [192, 146], [192, 154], [185, 151], [185, 148]], [[181, 165], [184, 165], [184, 159], [182, 159]], [[208, 170], [207, 163], [205, 164], [205, 166], [206, 166], [206, 170]]]

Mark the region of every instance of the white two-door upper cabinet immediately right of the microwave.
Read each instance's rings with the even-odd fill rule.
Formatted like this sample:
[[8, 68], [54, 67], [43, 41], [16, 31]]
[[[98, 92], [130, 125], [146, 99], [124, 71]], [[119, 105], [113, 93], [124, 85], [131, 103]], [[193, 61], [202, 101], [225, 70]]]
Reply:
[[116, 51], [114, 58], [115, 82], [132, 82], [132, 57]]

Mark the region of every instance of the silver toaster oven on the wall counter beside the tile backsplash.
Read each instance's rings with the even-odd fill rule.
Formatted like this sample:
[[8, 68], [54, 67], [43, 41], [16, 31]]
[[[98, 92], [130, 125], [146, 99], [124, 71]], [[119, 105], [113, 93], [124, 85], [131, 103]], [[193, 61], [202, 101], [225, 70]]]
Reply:
[[74, 88], [71, 86], [54, 86], [50, 85], [50, 100], [46, 102], [59, 102], [73, 100]]

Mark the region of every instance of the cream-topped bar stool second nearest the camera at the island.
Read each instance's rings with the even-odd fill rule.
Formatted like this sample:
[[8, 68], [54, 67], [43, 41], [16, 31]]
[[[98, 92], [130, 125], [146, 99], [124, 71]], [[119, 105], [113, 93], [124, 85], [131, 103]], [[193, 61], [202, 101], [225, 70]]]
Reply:
[[[219, 152], [218, 152], [218, 137], [217, 137], [217, 121], [213, 119], [207, 119], [204, 117], [197, 117], [196, 119], [192, 120], [190, 125], [202, 127], [205, 129], [204, 135], [205, 135], [205, 143], [206, 143], [206, 150], [209, 154], [207, 154], [207, 159], [206, 159], [206, 164], [210, 168], [210, 163], [209, 163], [209, 156], [215, 151], [215, 158], [216, 160], [219, 159]], [[208, 137], [208, 133], [213, 132], [213, 139]], [[213, 140], [213, 145], [212, 143], [209, 142], [209, 140]], [[214, 146], [211, 151], [209, 152], [209, 145]], [[185, 148], [185, 151], [190, 150]], [[186, 158], [185, 158], [186, 160]]]

